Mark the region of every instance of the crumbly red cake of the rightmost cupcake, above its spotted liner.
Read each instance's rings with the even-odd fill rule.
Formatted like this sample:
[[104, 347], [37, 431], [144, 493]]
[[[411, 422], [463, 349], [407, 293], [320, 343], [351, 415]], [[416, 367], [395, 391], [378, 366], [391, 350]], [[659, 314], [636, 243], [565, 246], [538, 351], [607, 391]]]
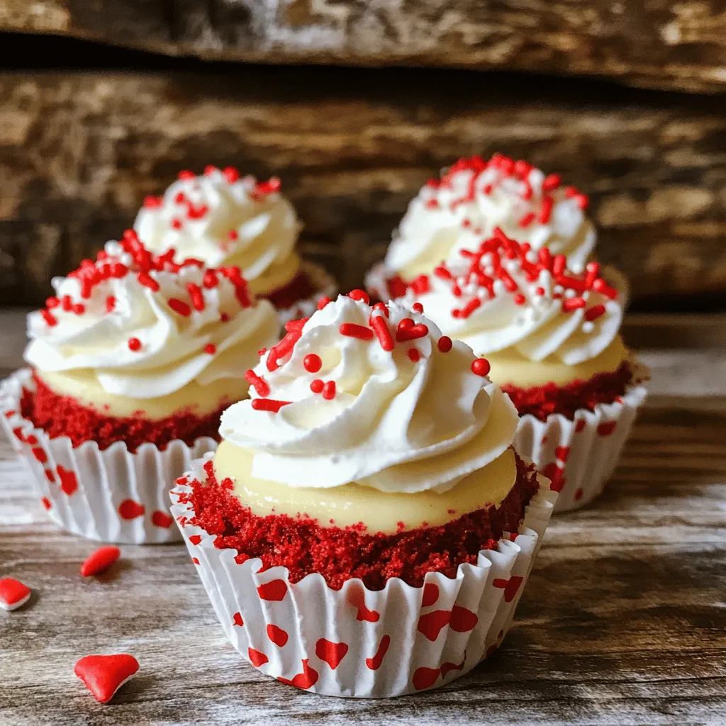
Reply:
[[574, 380], [567, 386], [547, 383], [544, 386], [517, 388], [503, 384], [502, 391], [509, 394], [520, 416], [531, 414], [540, 421], [558, 413], [574, 420], [579, 409], [595, 410], [597, 404], [611, 404], [625, 393], [633, 378], [632, 366], [624, 361], [609, 373], [597, 373], [589, 380]]

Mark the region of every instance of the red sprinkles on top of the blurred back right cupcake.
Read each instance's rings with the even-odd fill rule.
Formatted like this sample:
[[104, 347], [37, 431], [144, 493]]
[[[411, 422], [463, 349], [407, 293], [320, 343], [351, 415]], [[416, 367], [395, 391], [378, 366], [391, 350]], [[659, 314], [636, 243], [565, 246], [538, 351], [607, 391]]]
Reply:
[[[531, 204], [533, 203], [535, 194], [534, 189], [532, 188], [530, 175], [535, 169], [536, 167], [529, 162], [523, 160], [515, 161], [510, 159], [508, 156], [498, 153], [492, 155], [492, 158], [489, 159], [489, 161], [485, 161], [481, 158], [481, 156], [473, 156], [468, 159], [458, 160], [449, 167], [449, 170], [446, 171], [446, 174], [441, 176], [441, 179], [430, 179], [427, 181], [426, 187], [435, 190], [452, 187], [455, 175], [460, 174], [463, 171], [470, 171], [472, 174], [469, 179], [466, 194], [463, 197], [454, 199], [451, 203], [449, 203], [449, 208], [452, 212], [456, 211], [459, 205], [473, 202], [478, 192], [486, 196], [491, 195], [494, 189], [496, 189], [497, 186], [505, 179], [515, 179], [518, 181], [519, 184], [517, 185], [517, 193], [519, 197], [524, 202]], [[492, 177], [492, 181], [489, 181], [489, 183], [482, 187], [481, 184], [478, 184], [479, 177], [487, 170], [496, 170], [497, 174]], [[550, 221], [552, 208], [555, 205], [554, 194], [558, 191], [558, 189], [560, 189], [561, 181], [559, 174], [550, 174], [549, 176], [544, 177], [540, 187], [541, 194], [536, 200], [538, 205], [537, 208], [527, 211], [518, 221], [518, 224], [522, 229], [529, 227], [535, 220], [539, 222], [539, 224], [547, 224]], [[477, 187], [481, 188], [477, 189]], [[575, 187], [564, 187], [563, 193], [566, 198], [574, 199], [575, 203], [583, 211], [590, 203], [587, 195], [582, 194], [582, 192], [579, 192], [579, 190]], [[425, 205], [429, 209], [436, 209], [441, 206], [441, 201], [437, 195], [433, 195], [426, 200]], [[462, 227], [471, 227], [472, 223], [469, 219], [463, 219], [461, 224]], [[473, 229], [473, 232], [475, 234], [481, 234], [481, 229]]]

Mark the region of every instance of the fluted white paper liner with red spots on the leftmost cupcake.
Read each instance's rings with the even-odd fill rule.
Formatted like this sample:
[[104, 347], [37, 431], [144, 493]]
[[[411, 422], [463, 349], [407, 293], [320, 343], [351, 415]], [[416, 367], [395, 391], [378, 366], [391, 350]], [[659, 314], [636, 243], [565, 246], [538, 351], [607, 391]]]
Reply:
[[23, 388], [35, 389], [28, 368], [0, 383], [0, 421], [28, 466], [36, 496], [55, 523], [102, 542], [179, 542], [179, 531], [168, 513], [168, 491], [193, 460], [216, 449], [214, 439], [204, 436], [193, 446], [175, 440], [163, 451], [142, 444], [135, 454], [123, 441], [103, 451], [96, 441], [74, 449], [67, 436], [50, 439], [23, 418]]

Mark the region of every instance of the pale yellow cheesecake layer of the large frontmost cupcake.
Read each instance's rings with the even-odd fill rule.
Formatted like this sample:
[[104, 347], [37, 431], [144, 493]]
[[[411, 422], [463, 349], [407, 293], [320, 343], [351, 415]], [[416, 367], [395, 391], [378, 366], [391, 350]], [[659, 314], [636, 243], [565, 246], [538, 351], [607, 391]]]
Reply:
[[379, 492], [359, 484], [330, 489], [303, 489], [254, 478], [253, 452], [222, 441], [214, 455], [217, 481], [231, 478], [233, 492], [253, 514], [297, 517], [306, 515], [321, 526], [340, 528], [364, 523], [370, 532], [392, 534], [404, 529], [441, 526], [491, 505], [499, 505], [514, 486], [515, 455], [507, 449], [501, 456], [466, 476], [447, 492], [402, 494]]

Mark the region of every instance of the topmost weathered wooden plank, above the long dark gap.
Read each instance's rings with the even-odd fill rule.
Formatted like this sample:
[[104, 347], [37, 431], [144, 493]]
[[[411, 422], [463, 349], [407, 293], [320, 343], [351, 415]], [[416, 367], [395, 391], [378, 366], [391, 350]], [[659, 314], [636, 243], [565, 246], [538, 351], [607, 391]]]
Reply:
[[4, 0], [0, 29], [208, 60], [505, 68], [689, 91], [726, 83], [719, 0]]

